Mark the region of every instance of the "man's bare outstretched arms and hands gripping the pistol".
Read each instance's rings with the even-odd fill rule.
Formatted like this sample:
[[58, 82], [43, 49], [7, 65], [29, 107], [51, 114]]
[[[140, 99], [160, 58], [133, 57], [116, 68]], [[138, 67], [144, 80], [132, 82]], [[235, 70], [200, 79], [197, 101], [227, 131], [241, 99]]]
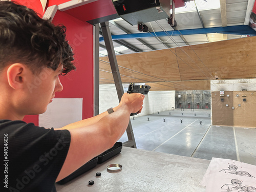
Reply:
[[92, 158], [111, 148], [125, 132], [130, 114], [141, 111], [144, 97], [139, 93], [125, 93], [119, 105], [114, 108], [114, 113], [104, 112], [90, 121], [79, 121], [65, 126], [65, 129], [70, 131], [71, 143], [56, 181], [67, 177]]

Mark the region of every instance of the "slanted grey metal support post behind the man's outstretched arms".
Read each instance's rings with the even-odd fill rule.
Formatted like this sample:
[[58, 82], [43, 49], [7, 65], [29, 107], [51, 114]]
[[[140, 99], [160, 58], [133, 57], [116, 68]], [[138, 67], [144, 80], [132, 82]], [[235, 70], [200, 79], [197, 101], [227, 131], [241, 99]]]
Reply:
[[[108, 57], [110, 60], [110, 67], [111, 67], [112, 75], [114, 78], [118, 99], [120, 102], [121, 97], [124, 92], [123, 92], [123, 86], [122, 86], [120, 72], [119, 72], [118, 65], [117, 65], [116, 54], [115, 54], [113, 41], [112, 41], [112, 37], [111, 37], [109, 22], [100, 23], [100, 26], [101, 26], [105, 46], [106, 46], [106, 51], [108, 52]], [[127, 133], [128, 141], [124, 142], [123, 146], [137, 148], [136, 143], [135, 143], [134, 134], [133, 134], [131, 120], [129, 121], [129, 124], [127, 126], [126, 133]]]

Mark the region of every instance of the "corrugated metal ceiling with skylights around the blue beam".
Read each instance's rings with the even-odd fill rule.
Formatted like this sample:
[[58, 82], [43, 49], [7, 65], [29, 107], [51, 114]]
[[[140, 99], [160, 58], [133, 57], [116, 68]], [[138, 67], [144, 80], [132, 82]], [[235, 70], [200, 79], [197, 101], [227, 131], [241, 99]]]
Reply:
[[[220, 2], [221, 1], [221, 2]], [[211, 27], [225, 27], [246, 24], [246, 15], [252, 10], [252, 0], [196, 0], [187, 3], [186, 8], [177, 8], [175, 19], [177, 30], [199, 29]], [[249, 2], [249, 3], [248, 3]], [[254, 3], [254, 0], [253, 0]], [[225, 6], [224, 6], [225, 5]], [[192, 9], [192, 10], [191, 10]], [[198, 9], [198, 12], [197, 10]], [[184, 11], [183, 11], [184, 10]], [[181, 12], [179, 12], [181, 11]], [[200, 20], [202, 19], [202, 23]], [[125, 20], [118, 18], [110, 21], [110, 30], [113, 35], [143, 33], [137, 26], [131, 26]], [[174, 30], [166, 19], [145, 24], [149, 32], [154, 34], [159, 31]], [[122, 39], [114, 41], [116, 54], [129, 54], [136, 52], [152, 51], [186, 45], [203, 44], [226, 39], [241, 38], [243, 35], [232, 34], [196, 34], [183, 36], [150, 37], [141, 39]], [[122, 44], [120, 45], [120, 41]], [[122, 46], [122, 47], [121, 47]], [[132, 49], [134, 48], [134, 49]], [[104, 41], [100, 42], [100, 56], [106, 56]]]

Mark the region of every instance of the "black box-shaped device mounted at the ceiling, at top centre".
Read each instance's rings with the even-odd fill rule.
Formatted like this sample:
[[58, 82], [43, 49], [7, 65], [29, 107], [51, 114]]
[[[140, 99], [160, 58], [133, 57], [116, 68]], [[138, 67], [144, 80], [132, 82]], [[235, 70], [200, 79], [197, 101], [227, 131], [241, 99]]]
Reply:
[[112, 0], [117, 14], [131, 25], [170, 18], [170, 0]]

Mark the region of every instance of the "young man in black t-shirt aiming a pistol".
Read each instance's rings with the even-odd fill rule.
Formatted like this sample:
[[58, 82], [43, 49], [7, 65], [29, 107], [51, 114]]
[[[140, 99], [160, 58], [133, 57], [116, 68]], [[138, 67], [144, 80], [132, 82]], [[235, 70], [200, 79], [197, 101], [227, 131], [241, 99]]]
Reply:
[[55, 182], [111, 148], [130, 114], [142, 110], [144, 95], [125, 93], [114, 113], [58, 130], [22, 121], [44, 113], [62, 90], [58, 76], [75, 69], [65, 31], [31, 9], [0, 2], [1, 191], [52, 191]]

